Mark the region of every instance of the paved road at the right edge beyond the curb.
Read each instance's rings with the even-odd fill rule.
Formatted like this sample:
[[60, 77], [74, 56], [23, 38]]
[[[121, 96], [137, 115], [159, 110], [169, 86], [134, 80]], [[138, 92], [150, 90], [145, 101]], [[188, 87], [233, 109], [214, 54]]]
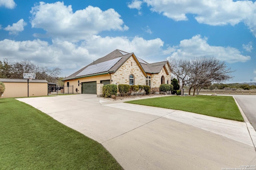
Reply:
[[256, 130], [256, 95], [233, 95], [244, 111], [252, 127]]

